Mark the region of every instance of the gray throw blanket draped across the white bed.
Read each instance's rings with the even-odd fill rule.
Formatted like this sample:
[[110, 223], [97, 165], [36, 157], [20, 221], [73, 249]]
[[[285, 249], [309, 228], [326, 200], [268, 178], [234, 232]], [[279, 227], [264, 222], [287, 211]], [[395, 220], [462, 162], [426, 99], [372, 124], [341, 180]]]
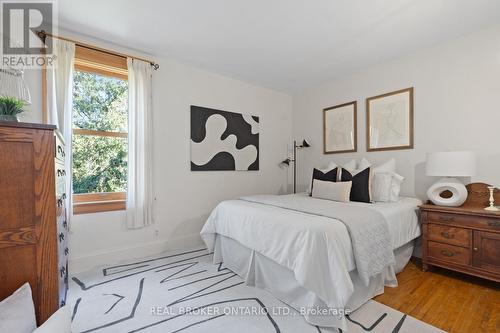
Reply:
[[371, 277], [395, 264], [389, 228], [380, 212], [299, 195], [255, 195], [240, 200], [329, 217], [344, 223], [351, 236], [356, 269], [366, 286]]

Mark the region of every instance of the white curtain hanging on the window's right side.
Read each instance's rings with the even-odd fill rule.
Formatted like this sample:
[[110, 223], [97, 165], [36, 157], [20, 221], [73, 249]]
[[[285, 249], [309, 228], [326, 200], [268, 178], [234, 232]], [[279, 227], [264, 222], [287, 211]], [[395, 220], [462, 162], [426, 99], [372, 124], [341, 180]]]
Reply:
[[128, 64], [127, 228], [153, 223], [152, 69], [147, 62]]

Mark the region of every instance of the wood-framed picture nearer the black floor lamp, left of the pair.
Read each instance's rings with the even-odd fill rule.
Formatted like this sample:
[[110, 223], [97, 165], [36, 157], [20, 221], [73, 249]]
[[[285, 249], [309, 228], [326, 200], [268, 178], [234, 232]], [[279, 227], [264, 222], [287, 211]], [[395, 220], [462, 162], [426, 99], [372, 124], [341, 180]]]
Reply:
[[356, 101], [323, 109], [323, 153], [339, 154], [358, 150]]

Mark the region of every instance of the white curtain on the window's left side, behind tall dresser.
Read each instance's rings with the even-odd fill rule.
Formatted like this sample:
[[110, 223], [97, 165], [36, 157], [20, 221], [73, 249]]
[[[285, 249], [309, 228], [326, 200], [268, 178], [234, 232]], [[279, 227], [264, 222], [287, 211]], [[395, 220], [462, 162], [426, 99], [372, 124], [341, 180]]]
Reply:
[[47, 113], [48, 123], [56, 125], [66, 142], [66, 210], [70, 225], [73, 216], [72, 205], [72, 158], [71, 135], [73, 128], [73, 68], [75, 44], [64, 40], [53, 40], [56, 62], [47, 68]]

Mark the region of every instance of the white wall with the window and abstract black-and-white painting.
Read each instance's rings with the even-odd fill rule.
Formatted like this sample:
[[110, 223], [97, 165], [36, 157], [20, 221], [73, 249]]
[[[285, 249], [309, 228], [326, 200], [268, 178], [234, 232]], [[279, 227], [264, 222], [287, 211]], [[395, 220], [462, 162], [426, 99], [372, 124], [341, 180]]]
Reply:
[[[61, 34], [127, 51], [69, 32]], [[201, 227], [220, 201], [286, 190], [288, 171], [278, 164], [286, 157], [291, 141], [291, 96], [169, 59], [155, 59], [160, 64], [153, 78], [155, 224], [126, 230], [124, 212], [76, 215], [70, 233], [72, 273], [118, 258], [200, 245]], [[32, 91], [39, 90], [39, 80], [37, 73], [27, 75]], [[37, 97], [32, 109], [39, 110], [39, 104]], [[192, 104], [259, 116], [260, 170], [191, 172]], [[29, 116], [28, 120], [41, 119], [36, 111]]]

